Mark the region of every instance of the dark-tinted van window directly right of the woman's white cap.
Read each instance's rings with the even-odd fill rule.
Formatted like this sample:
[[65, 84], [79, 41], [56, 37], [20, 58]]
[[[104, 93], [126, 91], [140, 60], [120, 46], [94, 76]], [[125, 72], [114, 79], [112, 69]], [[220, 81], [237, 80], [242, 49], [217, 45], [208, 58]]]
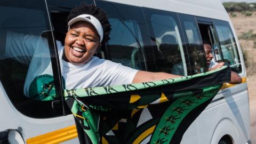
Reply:
[[134, 69], [145, 70], [141, 34], [145, 29], [145, 22], [141, 8], [102, 1], [97, 1], [97, 6], [105, 10], [111, 24], [110, 40], [107, 44], [108, 59]]

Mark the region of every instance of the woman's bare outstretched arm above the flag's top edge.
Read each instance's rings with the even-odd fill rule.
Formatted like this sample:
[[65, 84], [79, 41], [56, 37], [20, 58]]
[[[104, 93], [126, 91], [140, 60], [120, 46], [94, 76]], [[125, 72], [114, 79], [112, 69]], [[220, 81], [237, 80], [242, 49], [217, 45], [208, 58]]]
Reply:
[[154, 73], [154, 72], [140, 70], [134, 76], [132, 83], [151, 82], [151, 81], [157, 81], [161, 79], [169, 79], [169, 78], [175, 78], [175, 77], [181, 77], [181, 76], [162, 73], [162, 72]]

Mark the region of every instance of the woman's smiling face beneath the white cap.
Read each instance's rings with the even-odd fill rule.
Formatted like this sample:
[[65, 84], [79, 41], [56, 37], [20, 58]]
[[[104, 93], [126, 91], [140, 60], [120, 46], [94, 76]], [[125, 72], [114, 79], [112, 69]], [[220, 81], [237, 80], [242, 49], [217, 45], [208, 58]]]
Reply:
[[70, 27], [65, 38], [65, 57], [74, 65], [88, 62], [100, 47], [97, 30], [88, 22], [80, 21]]

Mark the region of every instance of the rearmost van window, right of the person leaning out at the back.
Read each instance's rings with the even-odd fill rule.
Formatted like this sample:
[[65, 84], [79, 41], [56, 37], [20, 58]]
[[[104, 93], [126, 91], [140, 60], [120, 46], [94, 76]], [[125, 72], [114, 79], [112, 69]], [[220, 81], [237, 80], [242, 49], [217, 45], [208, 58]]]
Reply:
[[214, 20], [214, 26], [219, 38], [223, 61], [227, 62], [232, 70], [237, 73], [241, 73], [242, 66], [237, 49], [237, 43], [228, 22]]

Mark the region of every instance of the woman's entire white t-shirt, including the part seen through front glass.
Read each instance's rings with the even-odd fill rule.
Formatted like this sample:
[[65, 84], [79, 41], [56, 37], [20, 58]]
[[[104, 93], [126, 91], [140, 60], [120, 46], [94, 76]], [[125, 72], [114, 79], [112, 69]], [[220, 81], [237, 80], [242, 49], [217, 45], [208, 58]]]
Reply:
[[[136, 69], [109, 60], [92, 57], [84, 65], [73, 65], [62, 60], [64, 47], [57, 41], [61, 75], [65, 89], [95, 86], [130, 84]], [[8, 32], [5, 57], [13, 58], [29, 65], [25, 80], [24, 94], [35, 97], [52, 91], [53, 72], [47, 39], [39, 36]], [[31, 96], [33, 95], [33, 96]]]

